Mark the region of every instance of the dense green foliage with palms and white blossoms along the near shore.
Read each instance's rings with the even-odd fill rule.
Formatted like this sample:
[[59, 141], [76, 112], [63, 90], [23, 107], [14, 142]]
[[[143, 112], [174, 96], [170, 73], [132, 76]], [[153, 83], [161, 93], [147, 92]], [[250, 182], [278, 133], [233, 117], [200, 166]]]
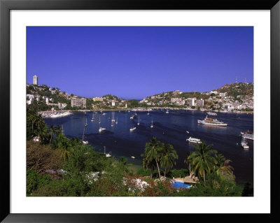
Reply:
[[[108, 158], [79, 138], [66, 138], [59, 127], [46, 126], [36, 107], [27, 108], [27, 196], [253, 196], [251, 185], [243, 191], [236, 185], [230, 160], [214, 154], [202, 143], [186, 154], [188, 168], [172, 169], [176, 150], [154, 137], [134, 174], [124, 157]], [[201, 180], [190, 189], [173, 189], [170, 179], [189, 172]]]

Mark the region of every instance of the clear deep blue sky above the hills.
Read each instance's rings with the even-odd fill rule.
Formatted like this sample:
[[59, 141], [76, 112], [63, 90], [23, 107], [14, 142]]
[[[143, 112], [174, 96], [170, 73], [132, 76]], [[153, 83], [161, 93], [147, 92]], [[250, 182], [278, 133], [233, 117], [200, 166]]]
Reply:
[[27, 27], [27, 83], [143, 99], [253, 82], [253, 27]]

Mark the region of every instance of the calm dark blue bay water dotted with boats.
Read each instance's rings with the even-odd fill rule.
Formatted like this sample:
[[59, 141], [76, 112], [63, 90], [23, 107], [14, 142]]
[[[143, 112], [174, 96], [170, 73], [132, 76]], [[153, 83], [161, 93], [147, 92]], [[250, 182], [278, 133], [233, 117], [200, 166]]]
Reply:
[[[169, 114], [165, 112], [166, 110], [155, 110], [150, 111], [148, 115], [146, 111], [137, 111], [133, 120], [130, 116], [134, 112], [127, 111], [104, 111], [106, 115], [101, 115], [100, 112], [86, 114], [77, 112], [67, 117], [45, 118], [45, 122], [48, 126], [53, 124], [62, 127], [67, 138], [83, 138], [85, 122], [87, 122], [85, 140], [94, 146], [94, 150], [104, 152], [105, 146], [106, 152], [112, 152], [112, 156], [123, 156], [133, 164], [139, 165], [142, 164], [140, 155], [144, 153], [146, 142], [156, 136], [163, 143], [174, 146], [179, 155], [176, 168], [186, 168], [183, 161], [188, 152], [195, 150], [195, 146], [188, 143], [186, 139], [190, 136], [200, 138], [207, 144], [213, 144], [212, 148], [232, 161], [237, 183], [253, 184], [253, 141], [248, 141], [249, 150], [244, 150], [240, 145], [240, 132], [253, 131], [253, 115], [218, 113], [216, 118], [228, 123], [228, 127], [211, 127], [197, 124], [198, 119], [202, 120], [206, 116], [200, 111], [169, 110]], [[93, 122], [91, 122], [92, 117], [94, 117]], [[112, 119], [118, 120], [118, 124], [115, 122], [112, 125]], [[138, 121], [139, 125], [137, 125]], [[104, 127], [106, 130], [99, 133], [99, 127]], [[130, 131], [132, 127], [137, 129]]]

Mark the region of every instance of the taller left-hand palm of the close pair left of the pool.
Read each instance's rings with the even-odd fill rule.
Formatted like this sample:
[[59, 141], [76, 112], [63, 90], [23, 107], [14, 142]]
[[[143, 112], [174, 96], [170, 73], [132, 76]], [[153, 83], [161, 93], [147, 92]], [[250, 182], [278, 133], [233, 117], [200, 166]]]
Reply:
[[158, 141], [157, 138], [153, 137], [151, 138], [151, 140], [146, 143], [145, 146], [145, 162], [146, 164], [151, 165], [151, 163], [153, 163], [153, 161], [155, 161], [155, 164], [157, 164], [158, 167], [158, 175], [160, 176], [160, 166], [158, 165], [160, 162], [160, 158], [161, 158], [161, 143], [160, 141]]

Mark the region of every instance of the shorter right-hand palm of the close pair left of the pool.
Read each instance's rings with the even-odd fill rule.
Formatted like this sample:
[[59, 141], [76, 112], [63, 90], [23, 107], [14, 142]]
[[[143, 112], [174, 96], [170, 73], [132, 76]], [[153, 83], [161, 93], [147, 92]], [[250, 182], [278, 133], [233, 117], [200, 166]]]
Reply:
[[162, 146], [162, 158], [160, 159], [160, 166], [165, 167], [165, 174], [167, 168], [172, 168], [176, 165], [175, 159], [178, 159], [178, 154], [170, 144], [164, 144]]

